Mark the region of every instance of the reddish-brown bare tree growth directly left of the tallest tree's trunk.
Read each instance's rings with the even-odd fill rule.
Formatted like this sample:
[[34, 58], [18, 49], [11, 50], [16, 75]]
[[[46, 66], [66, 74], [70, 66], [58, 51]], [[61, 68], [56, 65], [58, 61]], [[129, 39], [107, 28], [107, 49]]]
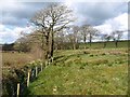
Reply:
[[14, 48], [18, 52], [30, 52], [36, 58], [43, 58], [41, 54], [41, 33], [34, 31], [31, 33], [24, 33], [17, 39]]

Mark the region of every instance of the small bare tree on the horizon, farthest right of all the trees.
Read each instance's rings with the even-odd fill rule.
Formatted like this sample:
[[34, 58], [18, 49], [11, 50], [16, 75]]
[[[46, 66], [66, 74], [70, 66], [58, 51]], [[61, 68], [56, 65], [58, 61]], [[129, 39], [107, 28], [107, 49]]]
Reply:
[[122, 32], [123, 32], [123, 31], [120, 31], [120, 30], [115, 30], [115, 31], [112, 32], [113, 40], [115, 41], [116, 47], [118, 47], [118, 41], [119, 41], [120, 38], [122, 37]]

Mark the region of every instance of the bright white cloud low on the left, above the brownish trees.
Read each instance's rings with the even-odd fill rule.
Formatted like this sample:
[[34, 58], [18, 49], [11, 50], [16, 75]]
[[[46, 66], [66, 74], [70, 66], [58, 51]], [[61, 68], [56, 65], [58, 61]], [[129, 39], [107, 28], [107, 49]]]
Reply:
[[0, 25], [0, 43], [13, 43], [16, 39], [22, 37], [22, 33], [30, 33], [32, 28], [32, 26], [9, 28], [4, 25]]

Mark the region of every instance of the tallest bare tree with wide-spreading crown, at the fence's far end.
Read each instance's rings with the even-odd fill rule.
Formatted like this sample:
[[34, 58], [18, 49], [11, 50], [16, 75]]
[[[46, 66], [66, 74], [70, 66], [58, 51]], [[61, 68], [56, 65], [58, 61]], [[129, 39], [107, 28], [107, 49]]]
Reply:
[[51, 3], [46, 9], [36, 12], [31, 18], [31, 22], [37, 26], [37, 30], [42, 33], [46, 59], [53, 57], [54, 33], [74, 22], [72, 12], [63, 4]]

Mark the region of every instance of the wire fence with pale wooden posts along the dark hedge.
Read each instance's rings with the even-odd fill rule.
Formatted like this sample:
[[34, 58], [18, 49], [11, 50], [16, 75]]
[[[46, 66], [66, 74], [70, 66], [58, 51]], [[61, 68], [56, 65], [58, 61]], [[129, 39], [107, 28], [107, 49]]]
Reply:
[[[25, 69], [24, 72], [15, 71], [17, 74], [18, 81], [11, 80], [10, 82], [3, 82], [3, 88], [8, 91], [10, 97], [23, 97], [26, 95], [27, 87], [29, 86], [29, 82], [32, 82], [37, 79], [38, 73], [42, 72], [44, 68], [48, 67], [53, 60], [48, 60], [46, 63], [41, 63], [37, 66], [32, 66], [31, 68]], [[8, 86], [8, 87], [5, 87]], [[8, 88], [8, 89], [6, 89]], [[4, 96], [4, 95], [3, 95]]]

